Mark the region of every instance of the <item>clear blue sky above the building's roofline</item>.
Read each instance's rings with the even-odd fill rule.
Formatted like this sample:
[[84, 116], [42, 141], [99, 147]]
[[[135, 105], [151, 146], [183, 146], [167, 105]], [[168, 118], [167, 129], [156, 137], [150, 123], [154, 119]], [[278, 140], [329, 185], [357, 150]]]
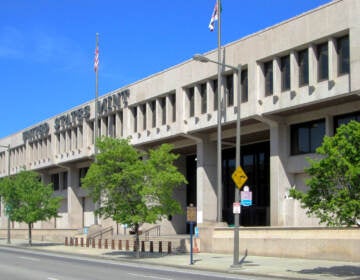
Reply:
[[[215, 2], [2, 0], [0, 138], [94, 99], [97, 32], [100, 96], [216, 49]], [[222, 0], [222, 44], [328, 2]]]

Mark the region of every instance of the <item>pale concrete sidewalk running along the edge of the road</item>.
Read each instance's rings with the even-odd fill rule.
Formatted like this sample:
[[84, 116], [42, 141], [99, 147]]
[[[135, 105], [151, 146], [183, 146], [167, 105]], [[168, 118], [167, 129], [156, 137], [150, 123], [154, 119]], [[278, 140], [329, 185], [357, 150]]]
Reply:
[[[360, 263], [274, 258], [259, 256], [240, 256], [240, 266], [231, 268], [233, 256], [229, 254], [198, 253], [193, 255], [194, 263], [190, 265], [189, 254], [143, 253], [140, 259], [134, 258], [133, 252], [111, 249], [65, 246], [49, 242], [34, 241], [29, 247], [27, 240], [0, 239], [0, 246], [13, 246], [32, 250], [43, 250], [66, 254], [80, 254], [102, 259], [157, 264], [178, 268], [191, 268], [239, 275], [273, 276], [283, 279], [360, 279]], [[360, 253], [360, 252], [359, 252]]]

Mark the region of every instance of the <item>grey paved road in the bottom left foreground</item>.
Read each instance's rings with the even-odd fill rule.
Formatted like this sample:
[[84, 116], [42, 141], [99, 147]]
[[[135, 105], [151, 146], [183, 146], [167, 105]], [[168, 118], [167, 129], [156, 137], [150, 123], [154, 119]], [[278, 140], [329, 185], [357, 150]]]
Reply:
[[0, 248], [0, 278], [2, 280], [266, 279], [156, 265], [119, 263], [18, 248]]

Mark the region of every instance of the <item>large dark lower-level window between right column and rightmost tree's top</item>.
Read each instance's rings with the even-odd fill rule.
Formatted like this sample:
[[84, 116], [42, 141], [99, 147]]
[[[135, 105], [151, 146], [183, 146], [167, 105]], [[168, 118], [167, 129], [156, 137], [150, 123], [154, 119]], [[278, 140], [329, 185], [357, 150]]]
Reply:
[[325, 120], [316, 120], [291, 126], [291, 154], [314, 153], [325, 135]]

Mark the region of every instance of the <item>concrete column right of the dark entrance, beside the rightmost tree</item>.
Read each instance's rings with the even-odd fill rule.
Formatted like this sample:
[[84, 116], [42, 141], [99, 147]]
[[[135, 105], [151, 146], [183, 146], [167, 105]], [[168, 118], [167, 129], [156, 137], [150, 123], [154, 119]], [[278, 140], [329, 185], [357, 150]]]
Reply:
[[286, 172], [289, 143], [287, 126], [270, 124], [270, 225], [286, 226], [284, 200], [291, 187], [291, 175]]

